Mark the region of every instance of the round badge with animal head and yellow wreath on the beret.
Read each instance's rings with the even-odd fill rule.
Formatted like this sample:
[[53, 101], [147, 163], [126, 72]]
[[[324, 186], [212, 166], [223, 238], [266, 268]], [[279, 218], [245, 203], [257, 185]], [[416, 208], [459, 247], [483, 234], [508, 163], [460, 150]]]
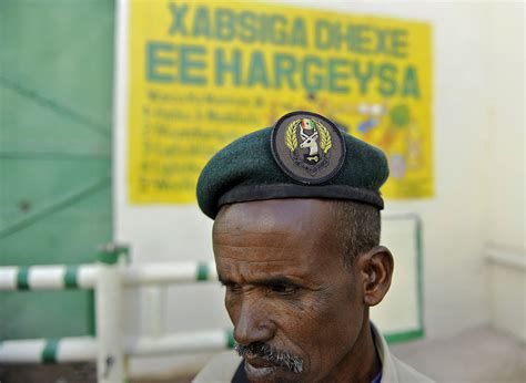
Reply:
[[345, 143], [330, 120], [311, 112], [281, 117], [271, 136], [274, 159], [290, 177], [303, 184], [333, 178], [345, 159]]

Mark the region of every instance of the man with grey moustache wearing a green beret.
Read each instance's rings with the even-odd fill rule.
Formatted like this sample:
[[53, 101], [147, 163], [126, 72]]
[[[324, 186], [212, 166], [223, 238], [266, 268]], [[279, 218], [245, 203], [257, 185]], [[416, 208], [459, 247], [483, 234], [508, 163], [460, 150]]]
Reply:
[[215, 220], [239, 356], [218, 355], [195, 382], [429, 381], [388, 352], [368, 318], [393, 273], [380, 246], [387, 176], [382, 152], [310, 112], [210, 161], [198, 200]]

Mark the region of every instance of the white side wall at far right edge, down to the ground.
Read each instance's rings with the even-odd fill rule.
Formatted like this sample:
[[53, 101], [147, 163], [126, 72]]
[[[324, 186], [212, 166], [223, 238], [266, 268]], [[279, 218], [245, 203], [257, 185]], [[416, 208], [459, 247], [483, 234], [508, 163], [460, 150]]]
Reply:
[[488, 217], [492, 324], [526, 342], [524, 4], [492, 4]]

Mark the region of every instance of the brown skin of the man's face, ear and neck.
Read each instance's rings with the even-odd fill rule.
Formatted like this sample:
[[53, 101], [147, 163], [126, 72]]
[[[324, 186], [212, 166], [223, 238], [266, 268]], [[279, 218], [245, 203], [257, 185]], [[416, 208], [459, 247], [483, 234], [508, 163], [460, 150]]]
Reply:
[[330, 200], [272, 199], [224, 206], [213, 229], [234, 339], [303, 360], [301, 373], [245, 358], [252, 382], [366, 382], [381, 371], [368, 321], [393, 273], [382, 246], [344, 267]]

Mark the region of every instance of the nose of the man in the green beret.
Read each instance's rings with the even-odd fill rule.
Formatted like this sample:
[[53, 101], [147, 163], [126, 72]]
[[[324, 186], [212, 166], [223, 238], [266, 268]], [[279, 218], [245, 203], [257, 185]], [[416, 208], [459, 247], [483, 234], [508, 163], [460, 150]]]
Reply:
[[234, 323], [234, 339], [239, 344], [266, 342], [274, 337], [275, 323], [266, 306], [257, 299], [245, 297]]

